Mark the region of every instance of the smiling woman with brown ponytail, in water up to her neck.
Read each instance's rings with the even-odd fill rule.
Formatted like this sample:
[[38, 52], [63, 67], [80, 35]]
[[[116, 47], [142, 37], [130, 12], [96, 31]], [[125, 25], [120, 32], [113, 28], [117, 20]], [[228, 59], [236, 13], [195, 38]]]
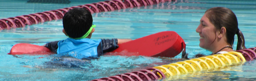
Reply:
[[[206, 10], [196, 32], [200, 36], [199, 46], [212, 54], [233, 51], [235, 34], [238, 37], [237, 50], [246, 49], [243, 34], [238, 29], [237, 17], [228, 8], [213, 7]], [[183, 58], [186, 58], [184, 53]]]

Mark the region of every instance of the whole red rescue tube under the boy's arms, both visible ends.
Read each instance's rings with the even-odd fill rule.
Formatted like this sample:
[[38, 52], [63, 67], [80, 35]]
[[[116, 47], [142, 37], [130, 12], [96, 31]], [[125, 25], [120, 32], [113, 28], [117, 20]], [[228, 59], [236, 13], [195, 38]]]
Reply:
[[[119, 44], [119, 48], [105, 55], [174, 57], [182, 52], [184, 47], [184, 40], [176, 32], [163, 31]], [[53, 53], [43, 46], [19, 43], [14, 45], [8, 54], [47, 55]]]

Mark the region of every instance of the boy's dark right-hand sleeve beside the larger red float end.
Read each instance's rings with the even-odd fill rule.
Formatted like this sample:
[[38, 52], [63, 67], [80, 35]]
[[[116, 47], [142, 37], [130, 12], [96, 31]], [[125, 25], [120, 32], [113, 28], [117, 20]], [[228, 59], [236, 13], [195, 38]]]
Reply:
[[102, 43], [102, 51], [104, 52], [111, 52], [115, 49], [117, 49], [119, 46], [117, 45], [118, 41], [117, 39], [101, 39]]

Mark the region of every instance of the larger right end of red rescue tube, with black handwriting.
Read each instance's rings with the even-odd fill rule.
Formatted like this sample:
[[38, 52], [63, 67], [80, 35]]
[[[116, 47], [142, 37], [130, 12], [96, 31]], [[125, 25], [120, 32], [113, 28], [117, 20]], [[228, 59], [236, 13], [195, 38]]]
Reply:
[[175, 31], [163, 31], [119, 44], [113, 52], [138, 52], [142, 56], [174, 57], [184, 48], [184, 40]]

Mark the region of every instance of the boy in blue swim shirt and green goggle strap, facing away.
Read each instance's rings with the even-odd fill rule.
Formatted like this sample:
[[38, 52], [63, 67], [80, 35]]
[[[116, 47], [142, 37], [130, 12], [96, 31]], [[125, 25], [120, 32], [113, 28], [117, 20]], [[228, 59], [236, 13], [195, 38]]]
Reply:
[[[96, 58], [104, 52], [118, 48], [118, 44], [131, 39], [99, 39], [91, 40], [95, 25], [91, 13], [85, 8], [73, 8], [63, 17], [62, 32], [68, 36], [66, 40], [46, 43], [45, 47], [57, 54], [68, 53], [69, 56], [86, 59]], [[74, 53], [75, 52], [75, 53]]]

